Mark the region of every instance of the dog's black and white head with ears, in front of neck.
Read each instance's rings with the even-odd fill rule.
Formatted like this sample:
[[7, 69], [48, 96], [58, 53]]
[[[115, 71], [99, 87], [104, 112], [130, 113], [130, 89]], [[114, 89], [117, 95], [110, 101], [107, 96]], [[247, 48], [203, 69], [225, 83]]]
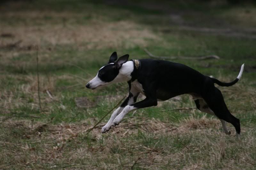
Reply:
[[113, 82], [122, 81], [119, 70], [122, 65], [128, 61], [129, 55], [123, 55], [117, 59], [117, 54], [114, 52], [108, 61], [108, 64], [100, 68], [97, 75], [86, 84], [89, 89], [95, 89], [101, 85], [108, 85]]

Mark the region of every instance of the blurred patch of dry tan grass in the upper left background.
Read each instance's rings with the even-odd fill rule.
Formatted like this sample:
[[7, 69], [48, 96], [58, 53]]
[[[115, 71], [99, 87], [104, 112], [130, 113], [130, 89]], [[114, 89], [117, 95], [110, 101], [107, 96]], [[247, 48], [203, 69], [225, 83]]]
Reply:
[[[159, 39], [147, 27], [129, 21], [104, 21], [100, 16], [93, 16], [88, 24], [79, 25], [75, 18], [82, 18], [85, 14], [66, 13], [66, 12], [6, 12], [2, 14], [7, 18], [19, 16], [28, 21], [28, 25], [10, 26], [2, 25], [1, 33], [12, 33], [12, 39], [0, 39], [0, 45], [4, 46], [18, 40], [22, 40], [19, 47], [38, 45], [40, 48], [54, 48], [56, 45], [76, 44], [77, 48], [82, 49], [101, 49], [117, 48], [122, 45], [124, 48], [135, 46], [144, 47], [147, 41], [144, 39]], [[41, 17], [38, 17], [41, 16]], [[45, 21], [44, 16], [58, 18], [53, 21]], [[65, 23], [61, 22], [63, 18], [68, 18]], [[34, 23], [44, 22], [43, 25], [35, 26]], [[31, 24], [29, 24], [31, 22]]]

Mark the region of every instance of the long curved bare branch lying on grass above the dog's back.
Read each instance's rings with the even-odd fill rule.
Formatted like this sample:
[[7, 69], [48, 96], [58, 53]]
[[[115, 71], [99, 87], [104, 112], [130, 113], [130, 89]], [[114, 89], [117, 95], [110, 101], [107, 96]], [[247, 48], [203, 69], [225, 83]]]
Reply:
[[175, 59], [183, 59], [183, 60], [206, 60], [206, 59], [210, 59], [210, 58], [215, 58], [215, 59], [220, 59], [219, 56], [217, 55], [207, 55], [207, 56], [202, 56], [202, 57], [185, 57], [185, 56], [157, 56], [157, 55], [153, 55], [152, 53], [150, 53], [147, 48], [144, 48], [144, 51], [152, 58], [155, 59], [169, 59], [169, 60], [175, 60]]

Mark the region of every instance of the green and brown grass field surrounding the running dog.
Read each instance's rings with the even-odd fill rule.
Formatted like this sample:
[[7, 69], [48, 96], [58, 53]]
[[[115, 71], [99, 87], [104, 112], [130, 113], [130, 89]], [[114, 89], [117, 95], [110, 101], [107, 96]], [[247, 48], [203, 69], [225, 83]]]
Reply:
[[[0, 3], [0, 169], [256, 169], [255, 15], [255, 4], [221, 1]], [[219, 87], [240, 119], [241, 139], [231, 124], [225, 135], [216, 117], [194, 109], [189, 95], [129, 113], [100, 134], [109, 114], [87, 133], [128, 87], [92, 91], [85, 84], [112, 52], [149, 58], [144, 48], [218, 55], [172, 61], [225, 82], [245, 63], [236, 85]]]

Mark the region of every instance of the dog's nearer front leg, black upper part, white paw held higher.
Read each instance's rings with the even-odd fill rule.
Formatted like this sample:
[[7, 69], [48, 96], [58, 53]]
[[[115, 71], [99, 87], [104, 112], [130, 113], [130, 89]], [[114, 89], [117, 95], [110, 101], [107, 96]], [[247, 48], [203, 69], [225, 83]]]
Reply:
[[113, 125], [118, 125], [122, 121], [124, 116], [133, 110], [144, 108], [144, 107], [156, 106], [156, 105], [157, 105], [156, 98], [146, 98], [140, 102], [134, 103], [132, 105], [128, 105], [124, 107], [123, 111], [118, 116], [116, 116], [115, 120], [113, 121]]

